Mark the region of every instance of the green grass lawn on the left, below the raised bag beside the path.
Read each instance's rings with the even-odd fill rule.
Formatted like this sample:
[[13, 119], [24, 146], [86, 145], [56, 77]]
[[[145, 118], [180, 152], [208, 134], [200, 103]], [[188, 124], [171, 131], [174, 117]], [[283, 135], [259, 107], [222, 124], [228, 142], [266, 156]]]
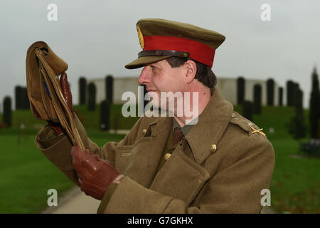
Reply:
[[[75, 185], [36, 148], [36, 131], [20, 143], [17, 135], [17, 130], [0, 131], [0, 213], [39, 213], [47, 207], [49, 189], [57, 190], [59, 199]], [[124, 137], [96, 131], [88, 135], [100, 146]]]

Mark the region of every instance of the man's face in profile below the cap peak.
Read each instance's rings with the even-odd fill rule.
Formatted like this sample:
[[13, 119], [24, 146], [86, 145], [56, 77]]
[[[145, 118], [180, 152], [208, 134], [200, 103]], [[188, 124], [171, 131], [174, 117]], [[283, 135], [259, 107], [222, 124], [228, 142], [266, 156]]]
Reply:
[[[160, 108], [161, 101], [165, 100], [164, 94], [161, 94], [161, 92], [183, 93], [187, 90], [185, 75], [185, 66], [172, 68], [166, 60], [163, 60], [145, 66], [140, 73], [138, 81], [140, 84], [146, 85], [146, 90], [151, 97], [157, 95], [160, 98], [157, 102]], [[166, 101], [167, 107], [169, 107], [168, 100]], [[154, 100], [152, 100], [152, 103], [156, 105]]]

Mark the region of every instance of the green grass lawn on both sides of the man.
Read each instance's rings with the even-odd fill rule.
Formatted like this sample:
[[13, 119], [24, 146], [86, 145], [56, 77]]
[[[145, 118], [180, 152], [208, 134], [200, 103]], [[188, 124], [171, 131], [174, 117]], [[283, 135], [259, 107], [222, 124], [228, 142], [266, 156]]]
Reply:
[[[241, 108], [235, 110], [241, 113]], [[108, 141], [119, 141], [124, 135], [110, 135], [99, 130], [99, 112], [87, 112], [85, 106], [75, 106], [87, 134], [102, 146]], [[118, 129], [129, 129], [137, 118], [123, 118], [121, 105], [112, 106], [111, 120], [118, 118]], [[320, 213], [320, 159], [311, 157], [294, 158], [302, 155], [299, 142], [287, 133], [286, 124], [294, 113], [293, 108], [264, 107], [262, 115], [254, 120], [263, 128], [272, 142], [276, 162], [270, 186], [272, 208], [277, 212]], [[307, 118], [308, 112], [305, 111]], [[1, 120], [1, 115], [0, 115]], [[27, 135], [18, 143], [18, 125], [26, 125]], [[36, 213], [46, 207], [47, 191], [68, 190], [73, 183], [58, 171], [34, 145], [37, 130], [34, 125], [43, 125], [42, 120], [33, 118], [31, 111], [14, 112], [13, 128], [0, 130], [0, 213]], [[270, 128], [274, 133], [270, 133]], [[306, 139], [304, 139], [306, 140]]]

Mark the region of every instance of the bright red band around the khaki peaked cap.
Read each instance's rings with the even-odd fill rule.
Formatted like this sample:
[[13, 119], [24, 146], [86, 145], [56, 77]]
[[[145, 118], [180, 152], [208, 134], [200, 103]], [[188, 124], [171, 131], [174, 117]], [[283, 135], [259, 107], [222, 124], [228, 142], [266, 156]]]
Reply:
[[212, 68], [215, 49], [210, 46], [188, 38], [176, 36], [144, 36], [144, 51], [169, 50], [190, 53], [192, 58]]

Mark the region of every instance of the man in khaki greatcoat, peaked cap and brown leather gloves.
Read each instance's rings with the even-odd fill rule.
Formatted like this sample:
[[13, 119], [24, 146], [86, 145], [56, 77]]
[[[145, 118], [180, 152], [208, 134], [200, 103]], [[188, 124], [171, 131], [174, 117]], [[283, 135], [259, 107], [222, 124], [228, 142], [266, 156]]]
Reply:
[[[99, 213], [259, 213], [274, 150], [214, 87], [211, 67], [225, 37], [162, 19], [139, 20], [137, 31], [143, 51], [126, 68], [144, 67], [139, 83], [159, 108], [161, 92], [181, 92], [183, 100], [186, 92], [198, 95], [196, 103], [189, 100], [197, 118], [166, 106], [174, 117], [139, 118], [122, 141], [100, 148], [75, 115], [87, 150], [72, 147], [53, 125], [36, 135], [38, 148], [83, 192], [102, 200]], [[65, 73], [60, 80], [72, 110]]]

